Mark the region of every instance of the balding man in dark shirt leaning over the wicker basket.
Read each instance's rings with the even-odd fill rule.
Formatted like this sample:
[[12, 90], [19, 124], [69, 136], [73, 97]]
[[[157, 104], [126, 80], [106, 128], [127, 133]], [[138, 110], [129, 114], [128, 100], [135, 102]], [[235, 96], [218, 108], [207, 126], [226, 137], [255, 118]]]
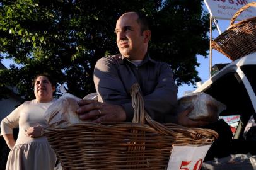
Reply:
[[[93, 122], [131, 122], [134, 110], [130, 89], [139, 83], [145, 110], [151, 118], [164, 123], [177, 105], [177, 86], [173, 81], [170, 65], [156, 62], [149, 57], [148, 43], [151, 31], [146, 18], [139, 13], [124, 13], [117, 20], [115, 33], [120, 54], [103, 57], [95, 66], [94, 82], [98, 101], [79, 101], [77, 113], [82, 120]], [[179, 114], [174, 123], [195, 126], [187, 118], [192, 108]]]

